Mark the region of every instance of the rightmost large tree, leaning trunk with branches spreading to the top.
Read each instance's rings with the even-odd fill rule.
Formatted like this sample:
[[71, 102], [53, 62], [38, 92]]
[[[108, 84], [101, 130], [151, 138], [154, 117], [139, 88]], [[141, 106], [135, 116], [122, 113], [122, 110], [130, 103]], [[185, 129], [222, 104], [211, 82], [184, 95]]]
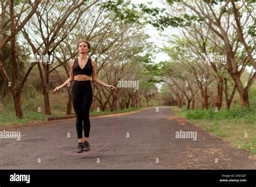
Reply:
[[[238, 45], [235, 46], [235, 41], [231, 37], [236, 37], [239, 35], [239, 41], [243, 41], [241, 35], [242, 33], [232, 33], [232, 29], [236, 29], [237, 27], [232, 24], [232, 13], [235, 12], [235, 18], [238, 20], [238, 12], [234, 9], [234, 2], [232, 2], [232, 7], [230, 7], [229, 1], [226, 1], [225, 3], [217, 3], [211, 4], [209, 2], [204, 2], [202, 0], [198, 2], [195, 2], [196, 7], [192, 6], [191, 4], [186, 3], [185, 1], [179, 1], [181, 5], [184, 5], [186, 8], [189, 8], [192, 10], [196, 15], [200, 18], [201, 22], [206, 24], [207, 27], [214, 32], [218, 37], [223, 40], [225, 45], [225, 54], [227, 55], [227, 63], [225, 68], [227, 69], [230, 76], [233, 78], [236, 87], [238, 89], [240, 100], [242, 107], [248, 107], [250, 106], [249, 98], [248, 98], [248, 92], [255, 81], [256, 73], [253, 74], [253, 76], [250, 78], [250, 80], [247, 83], [247, 86], [244, 88], [240, 77], [241, 77], [241, 71], [239, 68], [239, 62], [236, 59], [236, 52], [238, 49]], [[220, 7], [219, 7], [220, 6]], [[220, 10], [220, 11], [219, 11]], [[253, 10], [253, 9], [252, 9]], [[251, 11], [252, 11], [251, 10]], [[236, 21], [239, 27], [239, 24], [246, 26], [249, 18], [251, 17], [251, 11], [246, 9], [244, 13], [241, 13], [241, 15], [246, 15], [247, 18], [240, 19], [240, 21], [243, 21], [240, 23], [239, 21]], [[225, 24], [228, 23], [228, 24]], [[232, 27], [233, 28], [232, 28]], [[238, 32], [241, 32], [241, 30], [236, 29]], [[238, 42], [237, 42], [238, 44]], [[244, 44], [245, 46], [245, 44]], [[250, 52], [247, 50], [247, 54], [249, 54], [249, 58], [246, 58], [245, 61], [242, 62], [242, 69], [247, 66], [248, 62], [251, 62], [252, 64], [255, 63], [252, 61], [252, 58], [250, 57]]]

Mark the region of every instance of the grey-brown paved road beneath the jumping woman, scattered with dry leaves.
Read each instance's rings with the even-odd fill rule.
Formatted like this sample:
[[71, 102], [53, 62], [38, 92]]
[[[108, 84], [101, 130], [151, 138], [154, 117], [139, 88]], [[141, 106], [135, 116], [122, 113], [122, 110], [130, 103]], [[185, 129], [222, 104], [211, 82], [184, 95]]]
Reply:
[[[113, 124], [114, 116], [91, 118], [92, 151], [109, 141]], [[22, 137], [0, 139], [0, 169], [256, 169], [246, 150], [177, 117], [171, 107], [121, 114], [116, 125], [109, 144], [86, 155], [66, 154], [56, 146], [53, 121], [6, 129], [21, 131]], [[197, 132], [197, 140], [176, 138], [180, 130]], [[75, 119], [57, 121], [56, 140], [66, 152], [76, 153]]]

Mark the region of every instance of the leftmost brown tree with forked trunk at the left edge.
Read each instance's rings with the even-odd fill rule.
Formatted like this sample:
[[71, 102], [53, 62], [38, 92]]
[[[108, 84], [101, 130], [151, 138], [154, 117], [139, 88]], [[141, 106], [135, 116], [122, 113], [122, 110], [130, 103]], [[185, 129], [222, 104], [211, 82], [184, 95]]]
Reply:
[[[1, 1], [2, 5], [2, 13], [1, 13], [1, 26], [0, 26], [0, 49], [2, 51], [3, 47], [7, 44], [8, 41], [10, 41], [10, 53], [11, 53], [11, 64], [12, 64], [12, 75], [8, 75], [5, 66], [4, 61], [0, 60], [0, 71], [3, 73], [5, 77], [5, 81], [8, 82], [9, 89], [11, 90], [12, 96], [14, 98], [14, 105], [15, 105], [15, 112], [16, 116], [19, 118], [23, 117], [23, 112], [21, 108], [21, 90], [23, 88], [23, 85], [28, 78], [32, 68], [35, 66], [35, 63], [31, 63], [29, 68], [26, 70], [26, 73], [24, 77], [21, 79], [22, 81], [18, 83], [18, 77], [17, 77], [17, 61], [15, 56], [15, 43], [16, 43], [16, 34], [22, 30], [22, 28], [25, 26], [25, 24], [30, 20], [30, 18], [33, 16], [33, 14], [36, 12], [38, 5], [40, 1], [36, 0], [35, 3], [30, 4], [28, 2], [24, 2], [21, 6], [19, 3], [17, 3], [17, 9], [19, 9], [19, 12], [17, 15], [15, 15], [14, 12], [14, 0], [6, 1], [4, 4], [4, 1]], [[6, 8], [9, 5], [9, 16], [10, 19], [5, 21], [5, 15], [6, 15]], [[25, 17], [24, 20], [21, 20], [24, 15], [24, 12], [27, 13], [28, 9], [32, 8], [32, 10], [28, 13], [28, 15]], [[21, 22], [21, 23], [20, 23]], [[9, 25], [10, 23], [10, 25]], [[10, 28], [10, 34], [6, 35], [4, 37], [4, 29]], [[10, 78], [11, 77], [11, 78]]]

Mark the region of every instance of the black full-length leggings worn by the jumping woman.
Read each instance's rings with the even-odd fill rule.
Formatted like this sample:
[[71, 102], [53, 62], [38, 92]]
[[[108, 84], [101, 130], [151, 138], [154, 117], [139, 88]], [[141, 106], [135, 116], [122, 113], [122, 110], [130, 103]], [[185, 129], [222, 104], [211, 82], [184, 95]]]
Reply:
[[74, 81], [71, 96], [73, 108], [76, 113], [77, 138], [83, 138], [83, 122], [84, 136], [89, 137], [91, 127], [89, 112], [92, 103], [91, 81]]

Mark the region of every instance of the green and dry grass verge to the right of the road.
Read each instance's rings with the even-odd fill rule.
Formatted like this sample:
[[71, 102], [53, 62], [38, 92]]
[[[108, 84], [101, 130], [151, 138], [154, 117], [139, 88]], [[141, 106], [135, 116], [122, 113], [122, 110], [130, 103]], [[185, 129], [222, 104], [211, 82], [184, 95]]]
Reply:
[[234, 106], [231, 110], [221, 109], [218, 112], [213, 108], [187, 110], [174, 106], [173, 112], [234, 146], [250, 150], [251, 155], [256, 154], [256, 105], [251, 105], [250, 109]]

